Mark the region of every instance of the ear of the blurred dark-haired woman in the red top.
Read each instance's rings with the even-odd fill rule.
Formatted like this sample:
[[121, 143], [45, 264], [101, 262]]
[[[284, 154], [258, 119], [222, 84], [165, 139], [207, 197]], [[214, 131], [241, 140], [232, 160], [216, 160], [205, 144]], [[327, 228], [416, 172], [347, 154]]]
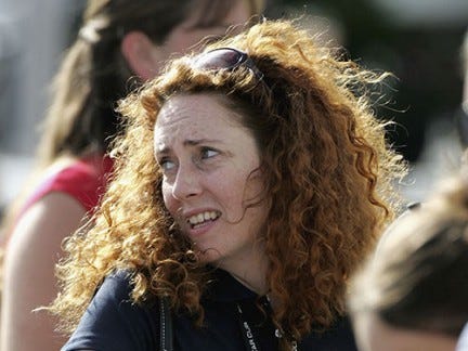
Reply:
[[120, 51], [127, 60], [130, 68], [142, 80], [148, 80], [156, 76], [160, 60], [157, 47], [142, 31], [129, 31], [125, 35]]

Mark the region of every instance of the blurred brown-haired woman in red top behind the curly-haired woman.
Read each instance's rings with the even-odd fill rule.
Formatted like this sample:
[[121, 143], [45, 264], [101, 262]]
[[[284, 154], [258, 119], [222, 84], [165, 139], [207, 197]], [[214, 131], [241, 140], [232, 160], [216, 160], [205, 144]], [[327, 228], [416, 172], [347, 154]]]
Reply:
[[54, 81], [38, 171], [3, 226], [2, 350], [57, 350], [54, 322], [32, 310], [56, 296], [64, 237], [84, 223], [106, 187], [106, 151], [119, 131], [115, 104], [162, 63], [206, 36], [262, 11], [262, 0], [90, 0]]

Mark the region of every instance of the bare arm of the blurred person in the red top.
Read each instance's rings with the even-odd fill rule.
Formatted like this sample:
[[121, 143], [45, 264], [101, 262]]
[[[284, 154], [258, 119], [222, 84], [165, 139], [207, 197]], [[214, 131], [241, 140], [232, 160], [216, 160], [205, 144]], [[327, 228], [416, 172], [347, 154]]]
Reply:
[[51, 193], [18, 221], [8, 246], [3, 271], [1, 350], [60, 350], [66, 339], [54, 333], [44, 311], [56, 296], [55, 263], [62, 240], [82, 223], [86, 210], [69, 195]]

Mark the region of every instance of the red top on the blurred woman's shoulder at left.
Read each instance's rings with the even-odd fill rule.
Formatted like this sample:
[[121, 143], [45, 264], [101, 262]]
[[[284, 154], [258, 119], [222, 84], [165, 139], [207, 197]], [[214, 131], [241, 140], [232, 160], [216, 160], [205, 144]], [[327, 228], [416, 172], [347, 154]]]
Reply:
[[74, 161], [47, 177], [37, 186], [23, 206], [20, 217], [39, 199], [53, 192], [68, 194], [78, 200], [87, 212], [92, 210], [106, 188], [112, 168], [113, 161], [107, 156], [92, 156]]

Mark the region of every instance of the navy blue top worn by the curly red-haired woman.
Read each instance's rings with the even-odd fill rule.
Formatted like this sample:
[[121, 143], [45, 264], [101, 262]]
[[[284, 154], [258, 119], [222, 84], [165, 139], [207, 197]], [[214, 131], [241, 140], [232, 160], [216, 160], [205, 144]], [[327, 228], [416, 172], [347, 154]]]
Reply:
[[[187, 315], [172, 316], [174, 350], [246, 350], [237, 304], [242, 306], [244, 312], [240, 321], [248, 321], [258, 349], [277, 350], [275, 328], [259, 310], [258, 296], [221, 270], [217, 270], [209, 294], [202, 301], [205, 309], [204, 327], [196, 327]], [[118, 272], [108, 276], [62, 351], [158, 350], [158, 304], [136, 306], [130, 301], [130, 291], [127, 273]], [[263, 303], [268, 303], [265, 299]], [[341, 320], [325, 334], [306, 337], [299, 342], [298, 350], [354, 351], [356, 347], [348, 320]]]

